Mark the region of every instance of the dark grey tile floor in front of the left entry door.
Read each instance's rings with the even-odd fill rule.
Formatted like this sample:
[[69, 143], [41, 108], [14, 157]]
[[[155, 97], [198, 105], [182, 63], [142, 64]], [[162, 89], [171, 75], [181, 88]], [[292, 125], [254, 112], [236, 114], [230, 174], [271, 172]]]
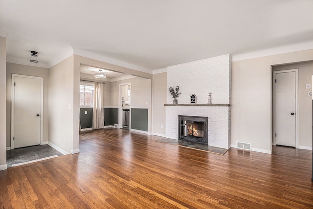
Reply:
[[6, 164], [12, 167], [14, 164], [38, 160], [53, 155], [63, 155], [49, 145], [27, 146], [6, 151]]

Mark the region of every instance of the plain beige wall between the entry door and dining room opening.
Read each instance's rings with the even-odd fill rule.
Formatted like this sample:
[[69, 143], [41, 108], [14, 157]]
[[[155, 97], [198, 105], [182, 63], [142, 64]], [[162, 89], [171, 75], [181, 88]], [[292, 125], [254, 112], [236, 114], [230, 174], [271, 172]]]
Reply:
[[[70, 153], [73, 148], [74, 60], [66, 60], [49, 68], [49, 143]], [[78, 76], [79, 81], [79, 76]], [[78, 84], [79, 105], [79, 84]], [[79, 112], [78, 112], [79, 113]], [[79, 123], [79, 121], [78, 121]], [[77, 129], [79, 129], [77, 125]]]

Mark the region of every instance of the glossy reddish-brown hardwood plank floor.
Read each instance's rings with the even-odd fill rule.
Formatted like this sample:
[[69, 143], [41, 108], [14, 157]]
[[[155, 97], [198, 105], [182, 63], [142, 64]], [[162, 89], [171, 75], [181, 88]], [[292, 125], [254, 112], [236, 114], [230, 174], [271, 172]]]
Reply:
[[79, 154], [0, 171], [0, 208], [313, 208], [310, 150], [221, 156], [159, 138], [81, 133]]

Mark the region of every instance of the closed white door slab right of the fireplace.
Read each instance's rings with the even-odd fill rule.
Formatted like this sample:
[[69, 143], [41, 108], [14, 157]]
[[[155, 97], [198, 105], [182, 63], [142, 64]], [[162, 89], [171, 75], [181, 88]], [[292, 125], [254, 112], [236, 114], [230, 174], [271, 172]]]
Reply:
[[296, 146], [296, 75], [275, 73], [276, 145]]

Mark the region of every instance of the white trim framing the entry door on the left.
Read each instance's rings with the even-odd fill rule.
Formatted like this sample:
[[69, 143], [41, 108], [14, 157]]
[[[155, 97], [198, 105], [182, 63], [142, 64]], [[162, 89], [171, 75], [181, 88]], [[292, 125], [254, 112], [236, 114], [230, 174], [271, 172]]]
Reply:
[[40, 79], [41, 81], [41, 95], [40, 95], [40, 145], [43, 145], [43, 130], [44, 130], [44, 78], [37, 77], [37, 76], [26, 76], [26, 75], [19, 75], [19, 74], [12, 74], [12, 82], [11, 82], [11, 149], [14, 149], [14, 104], [15, 104], [15, 94], [14, 94], [14, 82], [15, 77], [22, 77], [22, 78], [32, 78], [32, 79]]

